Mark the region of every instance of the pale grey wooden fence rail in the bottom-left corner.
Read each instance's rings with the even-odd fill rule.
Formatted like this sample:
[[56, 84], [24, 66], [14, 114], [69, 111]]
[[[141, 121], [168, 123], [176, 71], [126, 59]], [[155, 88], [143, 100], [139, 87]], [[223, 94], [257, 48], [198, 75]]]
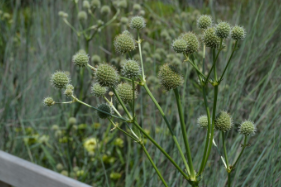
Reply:
[[0, 187], [90, 187], [0, 151]]

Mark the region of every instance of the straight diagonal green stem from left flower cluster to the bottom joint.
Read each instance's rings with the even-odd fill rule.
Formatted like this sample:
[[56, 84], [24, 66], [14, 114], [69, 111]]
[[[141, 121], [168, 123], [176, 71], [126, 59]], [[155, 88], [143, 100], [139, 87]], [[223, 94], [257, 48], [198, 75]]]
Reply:
[[166, 158], [170, 160], [170, 162], [178, 169], [178, 171], [187, 180], [189, 180], [189, 177], [186, 175], [186, 173], [177, 165], [177, 163], [170, 157], [170, 155], [153, 138], [151, 138], [136, 121], [133, 121], [133, 123], [166, 156]]

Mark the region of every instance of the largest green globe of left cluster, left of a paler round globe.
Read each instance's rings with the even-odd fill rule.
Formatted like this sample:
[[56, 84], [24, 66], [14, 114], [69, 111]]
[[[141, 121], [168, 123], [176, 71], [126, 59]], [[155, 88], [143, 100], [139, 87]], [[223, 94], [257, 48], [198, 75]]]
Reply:
[[117, 71], [108, 64], [100, 64], [96, 70], [96, 79], [101, 86], [113, 87], [119, 81]]

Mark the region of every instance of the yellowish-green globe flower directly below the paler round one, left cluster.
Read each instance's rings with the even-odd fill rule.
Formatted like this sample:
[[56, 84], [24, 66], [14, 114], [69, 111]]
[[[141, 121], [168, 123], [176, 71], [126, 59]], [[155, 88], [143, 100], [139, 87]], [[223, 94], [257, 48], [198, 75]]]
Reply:
[[[132, 102], [133, 101], [133, 87], [128, 83], [120, 83], [118, 84], [116, 91], [119, 95], [119, 97], [125, 102]], [[136, 98], [136, 92], [135, 92], [135, 98]]]

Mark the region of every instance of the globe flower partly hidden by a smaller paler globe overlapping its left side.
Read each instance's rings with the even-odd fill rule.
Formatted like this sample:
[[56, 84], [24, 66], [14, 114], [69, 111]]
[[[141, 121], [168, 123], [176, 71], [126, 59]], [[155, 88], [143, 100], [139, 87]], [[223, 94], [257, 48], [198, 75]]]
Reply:
[[192, 54], [198, 51], [199, 40], [194, 33], [192, 32], [184, 33], [180, 36], [180, 38], [184, 39], [187, 42], [186, 53]]

